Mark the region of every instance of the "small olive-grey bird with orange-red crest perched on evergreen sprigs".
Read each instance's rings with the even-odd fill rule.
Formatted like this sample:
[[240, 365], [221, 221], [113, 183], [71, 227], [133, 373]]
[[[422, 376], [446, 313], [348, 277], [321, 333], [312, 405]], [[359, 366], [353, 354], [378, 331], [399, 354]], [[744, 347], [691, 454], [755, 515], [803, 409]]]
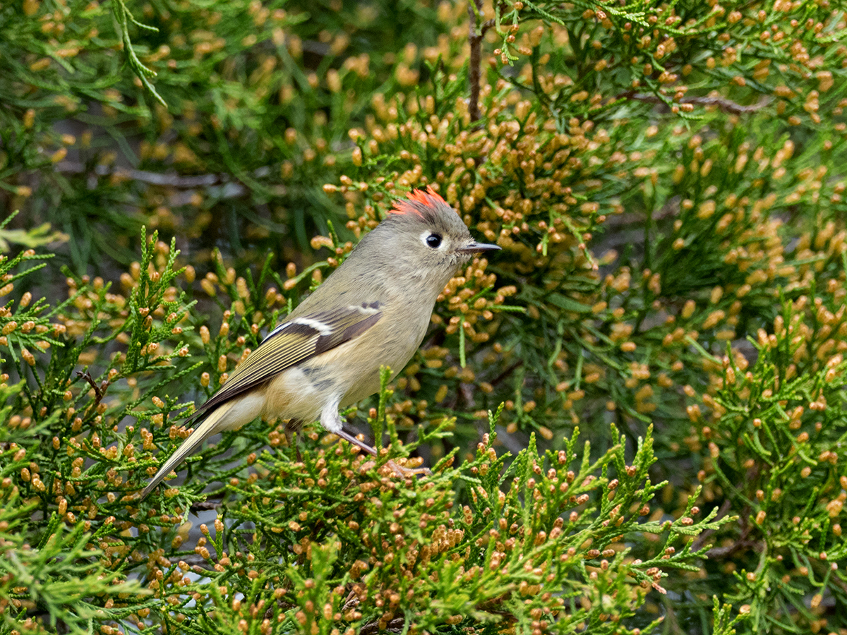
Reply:
[[[203, 440], [258, 417], [297, 430], [319, 419], [342, 428], [339, 408], [379, 391], [379, 368], [398, 373], [424, 340], [435, 299], [474, 254], [500, 249], [473, 240], [432, 187], [398, 200], [324, 284], [314, 290], [191, 417], [202, 421], [141, 492], [150, 494]], [[394, 466], [396, 467], [396, 466]]]

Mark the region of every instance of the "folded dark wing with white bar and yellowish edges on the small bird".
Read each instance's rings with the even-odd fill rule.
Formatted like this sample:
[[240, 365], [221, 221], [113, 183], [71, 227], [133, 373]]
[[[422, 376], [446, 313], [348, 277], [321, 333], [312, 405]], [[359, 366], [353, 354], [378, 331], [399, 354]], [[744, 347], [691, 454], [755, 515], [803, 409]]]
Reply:
[[[363, 334], [382, 317], [380, 302], [341, 306], [281, 323], [230, 375], [226, 384], [197, 409], [193, 417], [263, 384], [286, 368], [344, 344]], [[193, 418], [192, 417], [192, 418]]]

